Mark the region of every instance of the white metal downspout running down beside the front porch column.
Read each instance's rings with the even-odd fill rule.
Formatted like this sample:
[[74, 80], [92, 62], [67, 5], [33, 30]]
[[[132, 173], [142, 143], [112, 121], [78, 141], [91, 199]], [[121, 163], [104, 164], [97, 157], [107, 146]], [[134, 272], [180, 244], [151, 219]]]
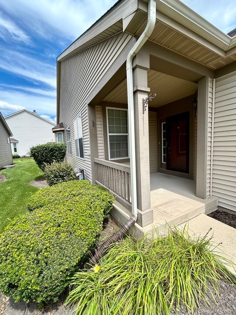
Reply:
[[156, 22], [156, 0], [148, 0], [148, 22], [146, 29], [130, 50], [126, 61], [127, 95], [128, 95], [128, 126], [129, 126], [129, 154], [131, 175], [132, 218], [136, 221], [137, 185], [136, 185], [136, 157], [135, 157], [135, 130], [134, 130], [134, 92], [133, 92], [133, 59], [151, 35]]

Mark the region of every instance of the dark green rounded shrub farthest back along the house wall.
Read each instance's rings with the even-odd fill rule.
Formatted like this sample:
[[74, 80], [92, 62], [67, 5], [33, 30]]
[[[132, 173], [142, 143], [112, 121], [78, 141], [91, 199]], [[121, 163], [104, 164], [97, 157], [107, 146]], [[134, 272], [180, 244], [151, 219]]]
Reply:
[[66, 153], [66, 145], [63, 143], [46, 143], [30, 148], [30, 156], [35, 160], [38, 167], [44, 170], [47, 164], [62, 162]]

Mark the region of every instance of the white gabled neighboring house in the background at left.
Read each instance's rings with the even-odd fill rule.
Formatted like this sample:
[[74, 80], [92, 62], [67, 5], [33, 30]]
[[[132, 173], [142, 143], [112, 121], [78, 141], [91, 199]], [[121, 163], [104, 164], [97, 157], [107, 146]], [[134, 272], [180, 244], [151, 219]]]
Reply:
[[19, 154], [21, 157], [29, 156], [29, 149], [32, 146], [54, 142], [52, 127], [55, 124], [38, 116], [35, 111], [20, 110], [6, 116], [5, 121], [13, 133], [12, 154]]

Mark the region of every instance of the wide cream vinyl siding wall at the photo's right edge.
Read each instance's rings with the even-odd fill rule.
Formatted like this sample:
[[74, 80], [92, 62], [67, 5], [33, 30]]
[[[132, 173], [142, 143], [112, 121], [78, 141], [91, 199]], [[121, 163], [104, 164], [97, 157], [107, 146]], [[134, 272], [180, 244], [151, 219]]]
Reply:
[[212, 195], [236, 211], [236, 72], [215, 83]]

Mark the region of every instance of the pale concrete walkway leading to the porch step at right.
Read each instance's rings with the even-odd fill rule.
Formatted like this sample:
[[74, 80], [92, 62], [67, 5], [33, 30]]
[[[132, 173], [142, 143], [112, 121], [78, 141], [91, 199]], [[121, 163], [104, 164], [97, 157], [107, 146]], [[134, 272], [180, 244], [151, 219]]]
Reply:
[[[221, 245], [213, 249], [214, 252], [219, 253], [225, 258], [231, 260], [236, 264], [236, 229], [224, 224], [220, 221], [217, 221], [213, 218], [210, 218], [204, 214], [201, 214], [187, 223], [181, 224], [180, 227], [188, 228], [188, 233], [190, 236], [205, 236], [208, 230], [211, 228], [211, 231], [208, 233], [208, 238], [212, 236], [212, 241], [214, 242], [213, 248], [219, 243]], [[227, 266], [231, 272], [236, 274], [236, 269], [232, 266]]]

